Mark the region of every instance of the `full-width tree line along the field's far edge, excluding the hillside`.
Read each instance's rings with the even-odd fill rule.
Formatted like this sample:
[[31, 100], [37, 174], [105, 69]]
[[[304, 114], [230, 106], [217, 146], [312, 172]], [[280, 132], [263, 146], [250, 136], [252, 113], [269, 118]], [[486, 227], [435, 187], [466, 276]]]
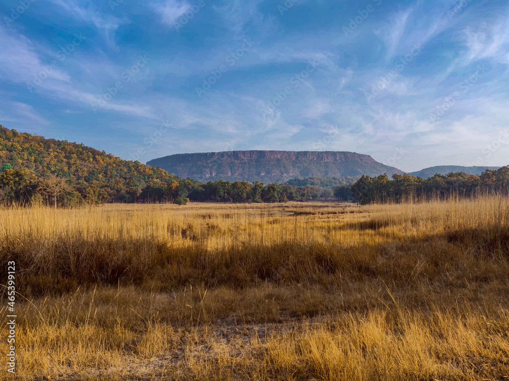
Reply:
[[[134, 190], [133, 190], [134, 189]], [[173, 174], [143, 187], [135, 186], [121, 199], [101, 184], [79, 184], [66, 177], [50, 174], [37, 176], [26, 168], [0, 168], [0, 202], [52, 206], [97, 205], [109, 202], [169, 202], [184, 205], [189, 201], [232, 203], [276, 203], [319, 199], [353, 200], [360, 204], [408, 202], [423, 199], [445, 199], [450, 196], [471, 197], [482, 193], [507, 193], [509, 166], [487, 169], [480, 175], [465, 172], [436, 174], [428, 179], [394, 174], [361, 176], [351, 185], [334, 188], [263, 184], [260, 181], [209, 181], [202, 183]]]

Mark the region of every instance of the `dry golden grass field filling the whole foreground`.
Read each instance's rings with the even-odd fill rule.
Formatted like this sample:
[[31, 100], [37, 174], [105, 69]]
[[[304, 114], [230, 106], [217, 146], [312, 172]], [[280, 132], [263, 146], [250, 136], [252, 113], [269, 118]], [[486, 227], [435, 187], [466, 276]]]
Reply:
[[509, 378], [503, 197], [10, 208], [0, 258], [19, 380]]

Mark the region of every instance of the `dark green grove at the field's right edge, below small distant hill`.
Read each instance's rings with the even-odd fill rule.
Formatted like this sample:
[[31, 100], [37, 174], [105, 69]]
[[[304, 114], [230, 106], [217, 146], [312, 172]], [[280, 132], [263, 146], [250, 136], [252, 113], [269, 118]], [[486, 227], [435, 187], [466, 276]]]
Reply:
[[435, 174], [423, 179], [408, 174], [362, 176], [351, 186], [353, 200], [361, 204], [471, 197], [509, 191], [509, 166], [487, 169], [480, 175], [465, 172]]

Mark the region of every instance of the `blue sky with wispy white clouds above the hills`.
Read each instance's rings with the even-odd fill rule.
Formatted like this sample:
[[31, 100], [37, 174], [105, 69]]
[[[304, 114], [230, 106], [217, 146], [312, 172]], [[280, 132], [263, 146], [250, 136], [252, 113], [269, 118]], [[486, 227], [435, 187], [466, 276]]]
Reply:
[[500, 0], [3, 0], [0, 124], [142, 163], [353, 151], [509, 164]]

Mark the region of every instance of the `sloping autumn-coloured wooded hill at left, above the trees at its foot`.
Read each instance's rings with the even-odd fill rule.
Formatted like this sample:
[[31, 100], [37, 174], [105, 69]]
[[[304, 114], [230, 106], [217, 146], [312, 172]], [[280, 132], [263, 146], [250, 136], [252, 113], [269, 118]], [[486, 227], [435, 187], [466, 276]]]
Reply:
[[160, 168], [122, 160], [83, 144], [19, 133], [2, 125], [0, 175], [4, 196], [9, 188], [15, 189], [21, 183], [30, 187], [38, 179], [54, 175], [66, 179], [71, 189], [83, 197], [101, 189], [101, 198], [117, 201], [129, 201], [144, 188], [157, 187], [175, 178]]

